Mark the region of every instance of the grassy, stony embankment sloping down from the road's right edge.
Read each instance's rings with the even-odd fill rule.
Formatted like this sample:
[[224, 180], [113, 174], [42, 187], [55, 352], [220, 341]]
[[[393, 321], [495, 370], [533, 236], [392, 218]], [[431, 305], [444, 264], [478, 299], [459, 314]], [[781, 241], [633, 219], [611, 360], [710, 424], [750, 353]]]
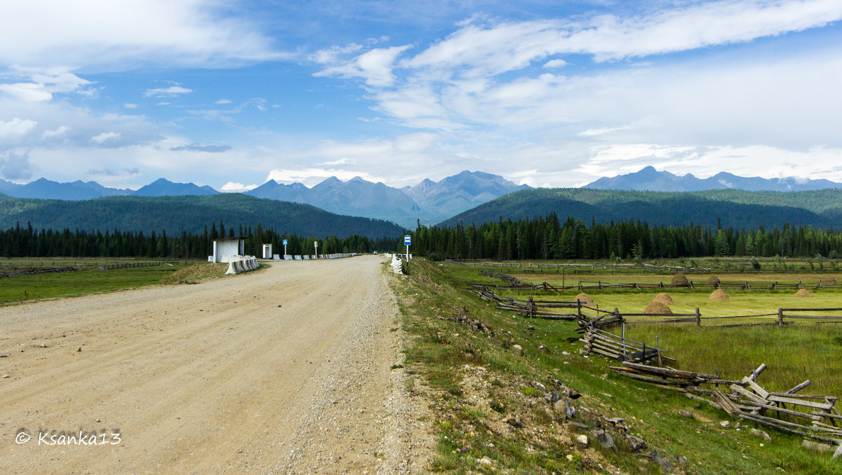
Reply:
[[[464, 291], [464, 283], [475, 280], [476, 270], [443, 269], [421, 259], [413, 261], [412, 269], [396, 287], [402, 295], [403, 326], [414, 336], [405, 364], [422, 376], [435, 400], [433, 423], [439, 436], [439, 455], [431, 467], [434, 471], [491, 472], [477, 464], [478, 458], [488, 456], [495, 470], [518, 473], [659, 472], [652, 459], [627, 451], [616, 432], [612, 434], [619, 446], [616, 450], [599, 444], [583, 450], [570, 444], [574, 435], [590, 435], [589, 430], [597, 424], [599, 418], [584, 409], [591, 408], [608, 418], [626, 419], [631, 433], [647, 440], [646, 452], [655, 451], [673, 472], [781, 473], [783, 469], [787, 473], [842, 473], [842, 463], [831, 461], [829, 454], [801, 449], [798, 437], [763, 429], [773, 438], [764, 442], [750, 435], [748, 427], [740, 431], [733, 426], [722, 428], [719, 421], [730, 418], [720, 410], [615, 375], [608, 366], [616, 361], [585, 358], [578, 354], [581, 344], [568, 343], [567, 338], [576, 335], [572, 323], [525, 320], [498, 312]], [[456, 322], [460, 315], [480, 320], [492, 328], [493, 335]], [[703, 333], [695, 336], [717, 338]], [[753, 338], [751, 334], [743, 336]], [[662, 335], [661, 344], [669, 348], [672, 338]], [[791, 343], [802, 349], [797, 359], [804, 365], [813, 364], [822, 351], [831, 348], [821, 346], [813, 351], [812, 336], [798, 338]], [[831, 334], [829, 342], [836, 338]], [[514, 343], [523, 347], [524, 355], [514, 352]], [[759, 343], [770, 344], [763, 339]], [[717, 344], [707, 347], [711, 353], [717, 350]], [[754, 368], [759, 365], [757, 359], [773, 353], [773, 348], [774, 344], [728, 357], [741, 360], [741, 367]], [[674, 355], [679, 367], [694, 364], [683, 360], [685, 356], [678, 350]], [[475, 370], [476, 366], [485, 371]], [[775, 371], [770, 364], [767, 372]], [[761, 383], [766, 376], [761, 376]], [[551, 391], [572, 388], [582, 392], [584, 396], [574, 402], [578, 416], [573, 422], [588, 429], [565, 421], [546, 403], [546, 391], [537, 383]], [[479, 391], [472, 389], [477, 384]], [[679, 416], [679, 409], [689, 410], [693, 419]], [[523, 428], [501, 422], [514, 416], [520, 418]]]

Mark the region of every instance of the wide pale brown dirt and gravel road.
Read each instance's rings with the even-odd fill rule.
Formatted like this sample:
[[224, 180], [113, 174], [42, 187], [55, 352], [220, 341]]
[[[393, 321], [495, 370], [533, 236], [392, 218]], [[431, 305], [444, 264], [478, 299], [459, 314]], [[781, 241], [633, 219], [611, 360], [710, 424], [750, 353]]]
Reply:
[[0, 308], [0, 472], [423, 472], [382, 263]]

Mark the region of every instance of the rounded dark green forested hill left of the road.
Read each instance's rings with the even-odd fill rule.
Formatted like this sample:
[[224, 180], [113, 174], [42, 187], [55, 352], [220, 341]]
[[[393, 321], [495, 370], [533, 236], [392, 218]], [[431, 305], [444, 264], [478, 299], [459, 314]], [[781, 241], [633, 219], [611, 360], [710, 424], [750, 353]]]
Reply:
[[94, 200], [28, 200], [0, 195], [0, 228], [200, 233], [222, 221], [235, 231], [258, 223], [264, 229], [301, 236], [395, 237], [402, 228], [389, 221], [340, 216], [315, 206], [262, 200], [240, 194], [208, 196], [108, 196]]

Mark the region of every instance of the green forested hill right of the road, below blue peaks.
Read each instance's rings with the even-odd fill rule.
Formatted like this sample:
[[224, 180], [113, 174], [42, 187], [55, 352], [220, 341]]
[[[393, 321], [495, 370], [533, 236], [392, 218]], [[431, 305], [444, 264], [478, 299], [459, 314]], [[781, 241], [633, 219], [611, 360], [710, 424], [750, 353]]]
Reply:
[[776, 192], [717, 189], [667, 193], [603, 189], [527, 189], [501, 196], [441, 223], [454, 227], [503, 219], [573, 216], [585, 222], [641, 220], [651, 225], [717, 227], [812, 225], [842, 228], [842, 191]]

